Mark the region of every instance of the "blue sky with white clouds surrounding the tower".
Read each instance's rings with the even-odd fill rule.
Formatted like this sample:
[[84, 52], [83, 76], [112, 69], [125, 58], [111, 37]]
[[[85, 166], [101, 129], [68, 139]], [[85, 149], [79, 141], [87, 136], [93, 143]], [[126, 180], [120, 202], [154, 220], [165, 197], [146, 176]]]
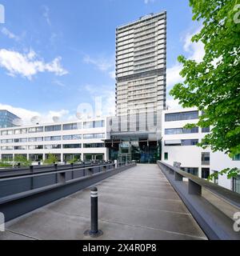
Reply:
[[[0, 109], [24, 122], [74, 120], [86, 106], [95, 115], [114, 114], [115, 29], [143, 15], [167, 11], [167, 105], [181, 66], [177, 58], [200, 61], [201, 43], [190, 38], [187, 0], [0, 0]], [[102, 105], [101, 105], [102, 103]], [[102, 109], [102, 111], [101, 111]], [[55, 120], [54, 119], [54, 120]]]

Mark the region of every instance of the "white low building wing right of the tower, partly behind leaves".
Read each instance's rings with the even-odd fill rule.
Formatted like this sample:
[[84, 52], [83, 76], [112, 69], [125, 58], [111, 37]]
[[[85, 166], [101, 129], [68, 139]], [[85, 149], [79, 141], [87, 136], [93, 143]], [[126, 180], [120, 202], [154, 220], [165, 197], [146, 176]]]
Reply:
[[[164, 110], [162, 113], [162, 161], [174, 166], [181, 163], [181, 169], [199, 178], [207, 178], [225, 168], [240, 169], [240, 156], [233, 159], [223, 152], [212, 152], [196, 146], [210, 132], [210, 128], [183, 128], [188, 123], [197, 123], [201, 111], [196, 109]], [[240, 193], [240, 177], [228, 179], [218, 175], [214, 182], [229, 190]]]

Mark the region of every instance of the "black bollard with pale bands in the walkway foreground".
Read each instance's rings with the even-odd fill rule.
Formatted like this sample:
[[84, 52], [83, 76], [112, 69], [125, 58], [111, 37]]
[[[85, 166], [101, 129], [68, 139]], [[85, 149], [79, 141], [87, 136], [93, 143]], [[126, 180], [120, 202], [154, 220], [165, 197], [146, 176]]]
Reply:
[[91, 189], [91, 229], [84, 232], [92, 238], [102, 235], [102, 230], [98, 230], [98, 189], [94, 186]]

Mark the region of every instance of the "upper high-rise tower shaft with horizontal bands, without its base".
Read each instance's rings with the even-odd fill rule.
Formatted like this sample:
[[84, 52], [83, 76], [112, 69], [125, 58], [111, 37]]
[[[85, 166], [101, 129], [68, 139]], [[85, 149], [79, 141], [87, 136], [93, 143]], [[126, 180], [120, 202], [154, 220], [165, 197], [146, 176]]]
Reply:
[[116, 114], [126, 116], [166, 106], [166, 11], [116, 30]]

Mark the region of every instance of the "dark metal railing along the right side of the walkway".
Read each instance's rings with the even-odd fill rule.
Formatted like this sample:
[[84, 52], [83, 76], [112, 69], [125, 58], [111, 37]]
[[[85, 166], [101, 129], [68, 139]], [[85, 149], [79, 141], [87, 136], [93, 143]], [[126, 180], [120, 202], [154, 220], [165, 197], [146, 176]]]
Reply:
[[234, 229], [234, 216], [240, 214], [240, 194], [166, 162], [158, 161], [158, 166], [208, 238], [240, 240], [239, 230]]

